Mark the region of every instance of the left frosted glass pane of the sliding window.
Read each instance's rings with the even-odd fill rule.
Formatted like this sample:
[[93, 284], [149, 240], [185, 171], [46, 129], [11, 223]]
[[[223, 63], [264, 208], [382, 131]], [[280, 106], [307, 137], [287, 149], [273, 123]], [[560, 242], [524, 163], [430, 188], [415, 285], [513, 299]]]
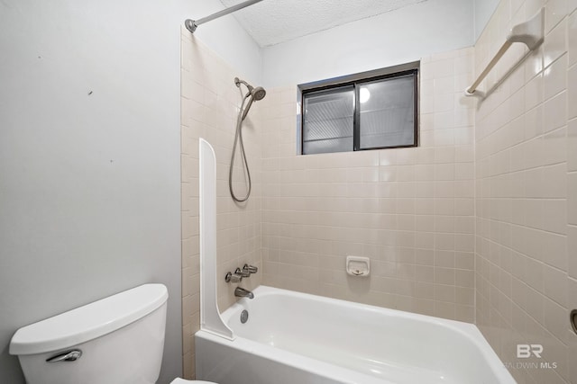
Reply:
[[353, 150], [353, 85], [304, 96], [303, 154]]

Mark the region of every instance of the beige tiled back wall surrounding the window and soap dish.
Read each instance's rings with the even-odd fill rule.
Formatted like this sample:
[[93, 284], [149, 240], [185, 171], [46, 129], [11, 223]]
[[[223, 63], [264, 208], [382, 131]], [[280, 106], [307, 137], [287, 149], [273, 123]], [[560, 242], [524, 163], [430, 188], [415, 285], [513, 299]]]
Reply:
[[[297, 155], [297, 88], [263, 101], [263, 283], [474, 317], [473, 50], [421, 61], [419, 147]], [[347, 255], [371, 258], [348, 276]]]

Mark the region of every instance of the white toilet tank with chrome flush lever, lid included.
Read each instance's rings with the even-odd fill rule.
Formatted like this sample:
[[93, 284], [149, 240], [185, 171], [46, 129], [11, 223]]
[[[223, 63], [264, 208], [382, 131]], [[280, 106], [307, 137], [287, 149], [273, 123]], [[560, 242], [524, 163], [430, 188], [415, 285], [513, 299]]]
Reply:
[[160, 374], [168, 291], [145, 284], [18, 329], [27, 384], [153, 384]]

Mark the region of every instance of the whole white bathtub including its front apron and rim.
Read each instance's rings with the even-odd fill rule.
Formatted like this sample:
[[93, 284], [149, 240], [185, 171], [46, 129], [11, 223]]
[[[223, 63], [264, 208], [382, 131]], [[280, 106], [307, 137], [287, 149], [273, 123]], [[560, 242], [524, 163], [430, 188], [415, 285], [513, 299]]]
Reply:
[[[241, 323], [241, 313], [249, 317]], [[476, 326], [261, 286], [195, 335], [197, 380], [219, 384], [515, 383]]]

